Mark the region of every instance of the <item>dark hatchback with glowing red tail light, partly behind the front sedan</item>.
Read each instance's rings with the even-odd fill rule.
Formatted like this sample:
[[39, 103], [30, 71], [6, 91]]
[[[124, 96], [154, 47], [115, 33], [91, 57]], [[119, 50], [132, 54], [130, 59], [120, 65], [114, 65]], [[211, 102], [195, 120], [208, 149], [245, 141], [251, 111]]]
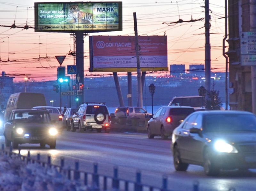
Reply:
[[189, 106], [160, 107], [148, 121], [148, 138], [161, 136], [162, 139], [167, 139], [168, 136], [172, 136], [172, 131], [180, 125], [180, 121], [193, 112], [195, 109]]

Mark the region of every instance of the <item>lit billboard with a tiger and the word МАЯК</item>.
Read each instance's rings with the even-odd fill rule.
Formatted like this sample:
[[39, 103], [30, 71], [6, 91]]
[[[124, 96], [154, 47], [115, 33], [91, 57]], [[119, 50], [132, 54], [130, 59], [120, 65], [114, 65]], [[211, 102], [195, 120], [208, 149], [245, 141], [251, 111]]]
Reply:
[[35, 3], [35, 32], [122, 31], [122, 2]]

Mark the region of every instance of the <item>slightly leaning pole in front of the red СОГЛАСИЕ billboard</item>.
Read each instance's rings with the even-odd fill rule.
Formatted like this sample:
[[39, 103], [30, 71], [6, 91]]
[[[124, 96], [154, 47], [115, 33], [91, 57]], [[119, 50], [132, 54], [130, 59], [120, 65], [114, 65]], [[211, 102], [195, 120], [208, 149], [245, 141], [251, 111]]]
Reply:
[[138, 30], [137, 30], [137, 16], [136, 12], [133, 13], [134, 20], [134, 32], [135, 32], [135, 48], [137, 57], [137, 86], [138, 86], [138, 107], [143, 107], [142, 102], [142, 84], [141, 84], [141, 70], [140, 70], [140, 45], [138, 41]]

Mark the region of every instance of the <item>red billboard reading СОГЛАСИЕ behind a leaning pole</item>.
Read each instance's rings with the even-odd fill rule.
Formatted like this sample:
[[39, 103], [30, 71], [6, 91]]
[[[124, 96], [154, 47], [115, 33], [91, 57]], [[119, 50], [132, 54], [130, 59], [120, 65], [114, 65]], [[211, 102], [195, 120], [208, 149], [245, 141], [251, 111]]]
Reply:
[[[168, 71], [167, 36], [138, 36], [141, 71]], [[89, 36], [90, 72], [137, 71], [134, 36]]]

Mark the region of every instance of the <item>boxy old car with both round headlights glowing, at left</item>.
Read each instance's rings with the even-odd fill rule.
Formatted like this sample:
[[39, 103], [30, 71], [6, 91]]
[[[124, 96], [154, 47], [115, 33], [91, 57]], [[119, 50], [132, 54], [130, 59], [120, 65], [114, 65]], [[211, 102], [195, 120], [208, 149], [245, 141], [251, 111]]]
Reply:
[[5, 146], [18, 149], [19, 144], [46, 144], [51, 149], [56, 147], [58, 130], [51, 123], [51, 117], [46, 110], [14, 109], [4, 124]]

